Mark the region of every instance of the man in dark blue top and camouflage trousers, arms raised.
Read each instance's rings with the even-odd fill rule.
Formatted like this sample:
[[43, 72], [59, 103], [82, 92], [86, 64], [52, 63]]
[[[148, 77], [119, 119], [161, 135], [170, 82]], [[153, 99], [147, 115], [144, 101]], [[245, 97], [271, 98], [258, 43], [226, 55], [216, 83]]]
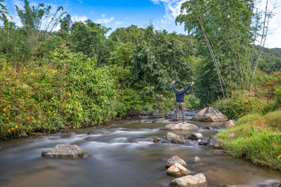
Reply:
[[176, 81], [173, 81], [173, 83], [172, 83], [173, 90], [176, 93], [176, 124], [178, 124], [178, 113], [180, 112], [180, 109], [181, 109], [181, 113], [183, 114], [183, 123], [185, 123], [184, 94], [192, 87], [192, 85], [194, 85], [194, 82], [192, 82], [191, 85], [188, 86], [188, 88], [186, 88], [185, 90], [183, 90], [182, 85], [180, 85], [179, 90], [176, 90], [174, 83], [176, 83]]

